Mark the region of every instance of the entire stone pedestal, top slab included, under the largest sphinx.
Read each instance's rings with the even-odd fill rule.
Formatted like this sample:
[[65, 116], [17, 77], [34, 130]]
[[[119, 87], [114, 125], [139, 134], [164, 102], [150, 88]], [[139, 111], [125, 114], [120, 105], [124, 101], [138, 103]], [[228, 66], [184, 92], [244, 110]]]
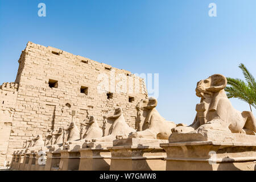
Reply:
[[160, 144], [167, 153], [168, 171], [256, 169], [256, 136], [196, 131], [174, 133], [169, 140], [170, 143]]

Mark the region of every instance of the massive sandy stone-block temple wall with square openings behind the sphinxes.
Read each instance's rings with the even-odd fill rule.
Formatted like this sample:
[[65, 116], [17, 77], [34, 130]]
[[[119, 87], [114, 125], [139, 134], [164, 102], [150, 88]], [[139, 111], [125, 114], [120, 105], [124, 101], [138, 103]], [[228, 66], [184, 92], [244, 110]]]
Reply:
[[0, 86], [0, 166], [10, 162], [26, 140], [38, 134], [45, 138], [71, 121], [80, 129], [92, 115], [102, 128], [104, 114], [113, 107], [122, 107], [125, 121], [135, 128], [136, 105], [147, 98], [142, 78], [31, 42], [18, 62], [15, 82]]

